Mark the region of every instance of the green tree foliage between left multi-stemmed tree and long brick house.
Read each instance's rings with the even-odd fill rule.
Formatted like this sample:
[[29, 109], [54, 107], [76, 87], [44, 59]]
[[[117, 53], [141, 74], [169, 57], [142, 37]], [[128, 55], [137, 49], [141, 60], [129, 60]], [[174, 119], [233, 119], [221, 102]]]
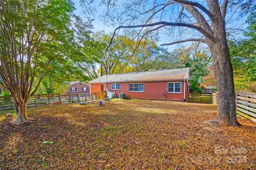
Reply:
[[83, 70], [81, 70], [79, 63], [89, 63], [88, 58], [96, 51], [95, 47], [98, 47], [98, 44], [93, 42], [91, 36], [91, 20], [83, 21], [79, 16], [74, 14], [71, 16], [70, 46], [62, 60], [54, 60], [49, 63], [51, 70], [45, 73], [44, 79], [37, 89], [37, 94], [63, 94], [70, 81], [87, 81], [89, 79], [84, 71], [88, 67], [82, 67]]

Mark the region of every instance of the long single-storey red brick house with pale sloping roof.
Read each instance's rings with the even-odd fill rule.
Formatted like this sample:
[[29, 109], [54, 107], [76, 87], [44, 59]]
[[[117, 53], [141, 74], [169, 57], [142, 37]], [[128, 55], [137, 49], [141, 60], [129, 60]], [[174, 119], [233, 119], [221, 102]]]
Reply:
[[108, 74], [90, 81], [90, 91], [115, 91], [129, 98], [188, 100], [189, 69]]

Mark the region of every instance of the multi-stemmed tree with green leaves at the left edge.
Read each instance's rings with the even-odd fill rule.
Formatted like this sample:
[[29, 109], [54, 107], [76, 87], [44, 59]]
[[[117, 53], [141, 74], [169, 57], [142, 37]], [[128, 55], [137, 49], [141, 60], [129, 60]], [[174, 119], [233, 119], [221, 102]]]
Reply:
[[26, 107], [45, 73], [69, 60], [73, 11], [70, 1], [0, 0], [0, 75], [13, 97], [13, 123], [30, 120]]

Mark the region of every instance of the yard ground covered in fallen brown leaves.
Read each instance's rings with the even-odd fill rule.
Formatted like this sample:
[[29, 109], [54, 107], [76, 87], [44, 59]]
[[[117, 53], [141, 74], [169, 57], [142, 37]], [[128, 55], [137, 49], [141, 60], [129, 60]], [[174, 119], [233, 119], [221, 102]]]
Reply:
[[0, 116], [0, 169], [255, 169], [256, 124], [204, 124], [207, 104], [116, 100]]

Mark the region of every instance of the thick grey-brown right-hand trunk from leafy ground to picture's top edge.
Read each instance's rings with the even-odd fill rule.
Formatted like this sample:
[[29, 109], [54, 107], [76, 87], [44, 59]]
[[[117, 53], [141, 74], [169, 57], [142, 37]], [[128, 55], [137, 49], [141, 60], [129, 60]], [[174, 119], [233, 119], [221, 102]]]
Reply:
[[211, 19], [214, 41], [208, 41], [207, 44], [212, 53], [213, 69], [218, 87], [218, 114], [212, 122], [221, 125], [238, 126], [234, 75], [229, 56], [225, 14], [221, 13], [223, 11], [221, 11], [219, 1], [207, 0], [207, 5], [214, 16]]

